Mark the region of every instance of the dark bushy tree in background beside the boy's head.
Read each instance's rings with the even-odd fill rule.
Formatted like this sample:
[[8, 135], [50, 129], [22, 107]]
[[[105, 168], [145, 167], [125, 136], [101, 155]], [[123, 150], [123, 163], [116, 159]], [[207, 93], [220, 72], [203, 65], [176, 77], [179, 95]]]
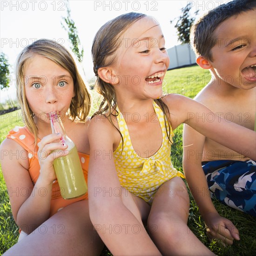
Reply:
[[186, 7], [183, 7], [181, 9], [181, 16], [175, 18], [174, 20], [170, 20], [170, 23], [172, 24], [176, 19], [178, 19], [174, 27], [177, 28], [178, 40], [181, 41], [182, 44], [189, 43], [190, 28], [193, 25], [193, 22], [195, 21], [195, 16], [199, 12], [199, 10], [195, 11], [195, 16], [190, 17], [189, 11], [191, 7], [191, 5], [187, 4]]

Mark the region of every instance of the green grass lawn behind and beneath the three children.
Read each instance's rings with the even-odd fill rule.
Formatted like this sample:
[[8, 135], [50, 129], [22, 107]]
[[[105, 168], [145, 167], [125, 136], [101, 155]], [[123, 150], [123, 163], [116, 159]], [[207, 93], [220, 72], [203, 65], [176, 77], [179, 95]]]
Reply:
[[[200, 67], [184, 67], [170, 70], [167, 72], [164, 90], [168, 93], [183, 94], [190, 98], [203, 88], [209, 82], [210, 73]], [[22, 125], [20, 121], [20, 110], [0, 116], [0, 142], [4, 140], [5, 135], [15, 125]], [[175, 130], [174, 145], [172, 146], [172, 162], [178, 170], [182, 170], [182, 126]], [[190, 195], [189, 210], [189, 228], [209, 249], [219, 256], [251, 256], [256, 252], [256, 218], [246, 215], [238, 210], [223, 206], [214, 201], [216, 209], [220, 215], [232, 221], [240, 233], [240, 241], [236, 241], [232, 246], [222, 247], [218, 241], [211, 243], [205, 232], [204, 221], [198, 211], [198, 208]], [[10, 204], [8, 200], [7, 189], [0, 172], [0, 254], [5, 252], [18, 240], [18, 227], [13, 221]], [[186, 243], [186, 241], [184, 241]], [[111, 255], [107, 249], [104, 249], [102, 256]]]

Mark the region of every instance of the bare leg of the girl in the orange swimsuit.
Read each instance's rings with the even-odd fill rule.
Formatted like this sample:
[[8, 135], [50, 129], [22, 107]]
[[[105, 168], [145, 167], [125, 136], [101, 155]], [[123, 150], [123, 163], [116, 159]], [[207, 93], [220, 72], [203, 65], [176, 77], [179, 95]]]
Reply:
[[104, 244], [89, 218], [88, 200], [54, 214], [4, 255], [100, 255]]

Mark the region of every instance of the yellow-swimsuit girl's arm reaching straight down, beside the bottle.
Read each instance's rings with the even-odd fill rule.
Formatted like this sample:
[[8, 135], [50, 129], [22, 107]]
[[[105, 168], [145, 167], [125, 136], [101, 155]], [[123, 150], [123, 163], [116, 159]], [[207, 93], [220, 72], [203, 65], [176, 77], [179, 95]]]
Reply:
[[[143, 227], [133, 196], [120, 186], [113, 159], [116, 133], [106, 119], [96, 116], [90, 121], [88, 195], [91, 221], [114, 255], [161, 255]], [[137, 227], [139, 233], [134, 233], [133, 227]]]

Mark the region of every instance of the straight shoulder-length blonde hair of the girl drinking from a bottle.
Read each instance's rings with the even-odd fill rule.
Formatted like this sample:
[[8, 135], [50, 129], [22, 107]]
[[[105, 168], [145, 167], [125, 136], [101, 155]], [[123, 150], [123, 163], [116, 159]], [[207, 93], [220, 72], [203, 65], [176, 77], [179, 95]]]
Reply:
[[23, 122], [29, 131], [34, 134], [36, 142], [38, 129], [34, 123], [34, 113], [29, 107], [26, 99], [24, 81], [24, 66], [34, 54], [42, 55], [49, 60], [54, 61], [71, 74], [74, 81], [75, 96], [72, 98], [68, 109], [68, 116], [72, 121], [78, 119], [79, 121], [85, 122], [87, 120], [91, 107], [91, 97], [78, 72], [74, 58], [61, 44], [53, 40], [40, 39], [24, 48], [19, 54], [15, 65], [17, 99], [20, 103], [22, 116], [25, 116]]

